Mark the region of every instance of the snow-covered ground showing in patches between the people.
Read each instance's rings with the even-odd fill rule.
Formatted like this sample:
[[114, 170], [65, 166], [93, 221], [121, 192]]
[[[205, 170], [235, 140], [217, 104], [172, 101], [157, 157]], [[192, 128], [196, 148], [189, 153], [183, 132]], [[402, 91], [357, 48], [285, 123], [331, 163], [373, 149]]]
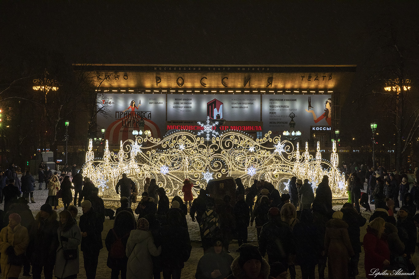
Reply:
[[[34, 200], [36, 203], [29, 203], [29, 208], [32, 210], [34, 216], [36, 216], [36, 214], [39, 212], [41, 205], [43, 205], [45, 203], [45, 201], [47, 200], [48, 197], [48, 190], [35, 190], [34, 191]], [[3, 206], [4, 204], [0, 204], [0, 209], [3, 210]], [[135, 205], [133, 205], [134, 207]], [[333, 209], [334, 210], [340, 210], [342, 207], [342, 205], [334, 205]], [[57, 210], [57, 213], [61, 212], [63, 210], [63, 207], [59, 207], [59, 209]], [[80, 218], [80, 215], [83, 213], [81, 210], [81, 207], [78, 207], [79, 213], [78, 213], [78, 217], [77, 219]], [[371, 210], [374, 211], [375, 207], [374, 205], [371, 205]], [[367, 219], [367, 223], [368, 220], [370, 219], [371, 216], [371, 212], [365, 212], [364, 208], [361, 208], [362, 211], [362, 216], [365, 217]], [[189, 278], [195, 278], [195, 271], [197, 268], [197, 264], [199, 259], [201, 258], [201, 256], [203, 255], [203, 250], [200, 247], [201, 246], [201, 241], [200, 241], [200, 236], [199, 236], [199, 225], [197, 224], [197, 222], [192, 222], [190, 216], [186, 216], [186, 220], [188, 223], [188, 227], [189, 227], [189, 235], [191, 238], [191, 242], [192, 242], [192, 251], [191, 251], [191, 256], [189, 258], [189, 260], [185, 263], [185, 267], [184, 269], [182, 269], [182, 278], [185, 279], [189, 279]], [[103, 246], [105, 246], [105, 238], [106, 235], [108, 233], [108, 231], [113, 227], [113, 223], [114, 220], [109, 220], [109, 217], [106, 217], [105, 219], [105, 223], [103, 224], [103, 232], [102, 232], [102, 241], [103, 241]], [[365, 233], [366, 233], [366, 228], [367, 228], [367, 224], [365, 224], [365, 226], [363, 226], [361, 228], [361, 238], [360, 241], [362, 241]], [[256, 237], [256, 228], [253, 227], [249, 227], [248, 228], [248, 240], [249, 242], [258, 245], [257, 243], [257, 237]], [[238, 248], [238, 244], [237, 241], [233, 241], [233, 243], [230, 244], [229, 250], [231, 251], [231, 255], [233, 256], [233, 258], [238, 256], [238, 253], [235, 252]], [[419, 253], [416, 251], [416, 254], [419, 256]], [[99, 264], [98, 264], [98, 269], [97, 269], [97, 275], [96, 278], [98, 279], [105, 279], [105, 278], [110, 278], [111, 277], [111, 269], [109, 269], [109, 267], [106, 266], [106, 259], [108, 256], [108, 251], [106, 251], [106, 248], [103, 248], [100, 253], [99, 253]], [[267, 256], [266, 256], [267, 259]], [[83, 268], [83, 254], [80, 253], [80, 273], [78, 274], [78, 278], [79, 279], [86, 279], [86, 274]], [[358, 269], [360, 274], [357, 276], [357, 278], [366, 278], [365, 277], [365, 269], [364, 269], [364, 252], [362, 251], [362, 253], [360, 254], [360, 262], [358, 265]], [[301, 278], [301, 270], [299, 266], [296, 266], [296, 271], [297, 271], [297, 277], [296, 278]], [[419, 271], [419, 269], [417, 269], [416, 271]], [[1, 277], [0, 277], [1, 278]], [[27, 278], [27, 277], [21, 277], [21, 278]], [[290, 278], [290, 275], [288, 275], [288, 278]], [[318, 278], [318, 273], [317, 273], [317, 267], [316, 267], [316, 278]], [[325, 278], [328, 278], [327, 276], [327, 267], [326, 267], [326, 271], [325, 271]]]

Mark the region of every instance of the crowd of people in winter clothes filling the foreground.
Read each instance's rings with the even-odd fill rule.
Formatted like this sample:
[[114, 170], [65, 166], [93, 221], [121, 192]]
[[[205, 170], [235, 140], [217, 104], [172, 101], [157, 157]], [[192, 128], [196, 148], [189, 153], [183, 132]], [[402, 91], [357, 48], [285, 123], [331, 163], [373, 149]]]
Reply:
[[[358, 174], [363, 166], [347, 171], [349, 200], [338, 211], [332, 208], [326, 175], [318, 185], [292, 177], [288, 193], [282, 195], [269, 182], [255, 180], [245, 188], [237, 178], [235, 192], [222, 198], [205, 189], [193, 198], [193, 184], [185, 179], [183, 199], [175, 196], [170, 200], [166, 190], [150, 178], [145, 179], [144, 192], [138, 197], [136, 184], [122, 174], [115, 187], [121, 195], [115, 214], [105, 208], [98, 188], [88, 177], [66, 167], [61, 174], [52, 174], [41, 164], [38, 187], [29, 171], [21, 183], [13, 175], [13, 166], [1, 174], [2, 183], [7, 184], [0, 191], [5, 202], [5, 210], [0, 212], [4, 223], [0, 231], [3, 278], [18, 278], [22, 268], [24, 276], [34, 279], [40, 279], [42, 271], [46, 279], [77, 278], [79, 249], [86, 277], [96, 278], [105, 216], [114, 219], [104, 241], [111, 279], [156, 279], [162, 274], [164, 279], [182, 278], [192, 249], [188, 214], [192, 222], [199, 223], [202, 240], [197, 279], [284, 279], [288, 275], [294, 279], [296, 267], [302, 278], [314, 279], [316, 266], [318, 278], [323, 279], [326, 264], [330, 279], [355, 278], [360, 272], [367, 278], [381, 278], [384, 270], [398, 270], [398, 275], [414, 278], [419, 192], [416, 194], [417, 182], [409, 187], [407, 176], [397, 172], [381, 168]], [[365, 181], [367, 192], [362, 192]], [[35, 202], [31, 193], [44, 184], [48, 198], [34, 218], [28, 202]], [[398, 195], [403, 197], [401, 205]], [[59, 214], [58, 199], [64, 205]], [[375, 211], [366, 220], [360, 205], [371, 211], [370, 204], [375, 205]], [[83, 211], [78, 224], [77, 207]], [[367, 222], [361, 243], [360, 228]], [[248, 243], [248, 227], [253, 225], [257, 246]], [[229, 251], [233, 239], [239, 244], [235, 259]], [[365, 270], [358, 270], [362, 246]]]

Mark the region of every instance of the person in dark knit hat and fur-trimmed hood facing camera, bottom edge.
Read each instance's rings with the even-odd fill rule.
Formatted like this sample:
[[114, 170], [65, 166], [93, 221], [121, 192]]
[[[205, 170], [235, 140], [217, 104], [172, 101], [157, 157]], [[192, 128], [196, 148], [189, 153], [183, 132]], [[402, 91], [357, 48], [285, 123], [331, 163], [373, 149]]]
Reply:
[[275, 279], [269, 276], [269, 264], [257, 246], [246, 243], [239, 247], [239, 251], [240, 255], [231, 264], [232, 274], [226, 279]]

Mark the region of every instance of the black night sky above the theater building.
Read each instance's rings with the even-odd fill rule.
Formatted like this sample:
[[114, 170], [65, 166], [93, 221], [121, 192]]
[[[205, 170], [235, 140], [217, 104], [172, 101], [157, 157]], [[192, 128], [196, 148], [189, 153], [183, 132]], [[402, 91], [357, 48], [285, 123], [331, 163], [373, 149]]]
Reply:
[[[407, 55], [417, 50], [418, 2], [1, 1], [0, 61], [3, 69], [45, 54], [70, 64], [357, 64], [359, 95], [369, 71], [387, 63], [385, 51], [371, 57], [388, 33]], [[348, 100], [342, 118], [354, 108]], [[350, 124], [342, 121], [348, 136]]]

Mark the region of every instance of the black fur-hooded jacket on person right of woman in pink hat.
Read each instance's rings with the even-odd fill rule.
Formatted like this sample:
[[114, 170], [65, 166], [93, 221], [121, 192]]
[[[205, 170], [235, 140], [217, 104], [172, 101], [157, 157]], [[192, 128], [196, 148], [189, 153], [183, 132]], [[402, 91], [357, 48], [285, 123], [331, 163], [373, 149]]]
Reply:
[[34, 223], [28, 230], [29, 246], [26, 249], [26, 256], [32, 265], [55, 264], [55, 255], [59, 245], [58, 226], [55, 210], [45, 220], [41, 220], [41, 212], [38, 212]]

